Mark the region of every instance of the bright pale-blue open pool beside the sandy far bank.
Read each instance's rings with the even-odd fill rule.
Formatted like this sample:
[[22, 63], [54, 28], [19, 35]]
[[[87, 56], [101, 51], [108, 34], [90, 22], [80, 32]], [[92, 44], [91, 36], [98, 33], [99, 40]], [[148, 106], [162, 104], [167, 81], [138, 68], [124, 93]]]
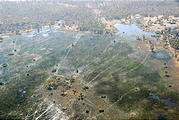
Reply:
[[137, 36], [141, 36], [141, 35], [145, 35], [149, 37], [154, 34], [152, 32], [146, 32], [146, 31], [141, 30], [135, 24], [126, 25], [126, 24], [117, 23], [114, 26], [119, 30], [117, 34], [122, 34], [133, 39], [136, 39]]

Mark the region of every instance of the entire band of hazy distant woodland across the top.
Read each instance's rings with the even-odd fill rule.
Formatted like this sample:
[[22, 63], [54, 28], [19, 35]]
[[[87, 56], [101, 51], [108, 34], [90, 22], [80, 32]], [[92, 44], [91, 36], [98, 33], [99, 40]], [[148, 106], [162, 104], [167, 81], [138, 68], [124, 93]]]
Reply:
[[179, 16], [176, 1], [76, 1], [46, 0], [7, 2], [0, 4], [0, 33], [27, 30], [65, 20], [66, 25], [78, 25], [82, 31], [103, 32], [101, 17], [108, 20], [129, 15]]

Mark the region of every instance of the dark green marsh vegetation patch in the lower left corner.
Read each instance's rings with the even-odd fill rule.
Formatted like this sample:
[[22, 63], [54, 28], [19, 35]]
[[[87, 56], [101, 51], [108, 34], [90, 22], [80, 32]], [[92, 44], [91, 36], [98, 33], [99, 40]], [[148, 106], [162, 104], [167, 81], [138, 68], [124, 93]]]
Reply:
[[[19, 78], [14, 79], [12, 86], [7, 84], [8, 88], [0, 93], [0, 113], [2, 113], [0, 118], [20, 119], [23, 117], [20, 114], [24, 113], [24, 109], [29, 107], [27, 103], [34, 88], [39, 86], [47, 77], [43, 72], [31, 71], [30, 74], [31, 77], [26, 77], [24, 74], [20, 75]], [[22, 88], [25, 88], [25, 94], [19, 91]]]

